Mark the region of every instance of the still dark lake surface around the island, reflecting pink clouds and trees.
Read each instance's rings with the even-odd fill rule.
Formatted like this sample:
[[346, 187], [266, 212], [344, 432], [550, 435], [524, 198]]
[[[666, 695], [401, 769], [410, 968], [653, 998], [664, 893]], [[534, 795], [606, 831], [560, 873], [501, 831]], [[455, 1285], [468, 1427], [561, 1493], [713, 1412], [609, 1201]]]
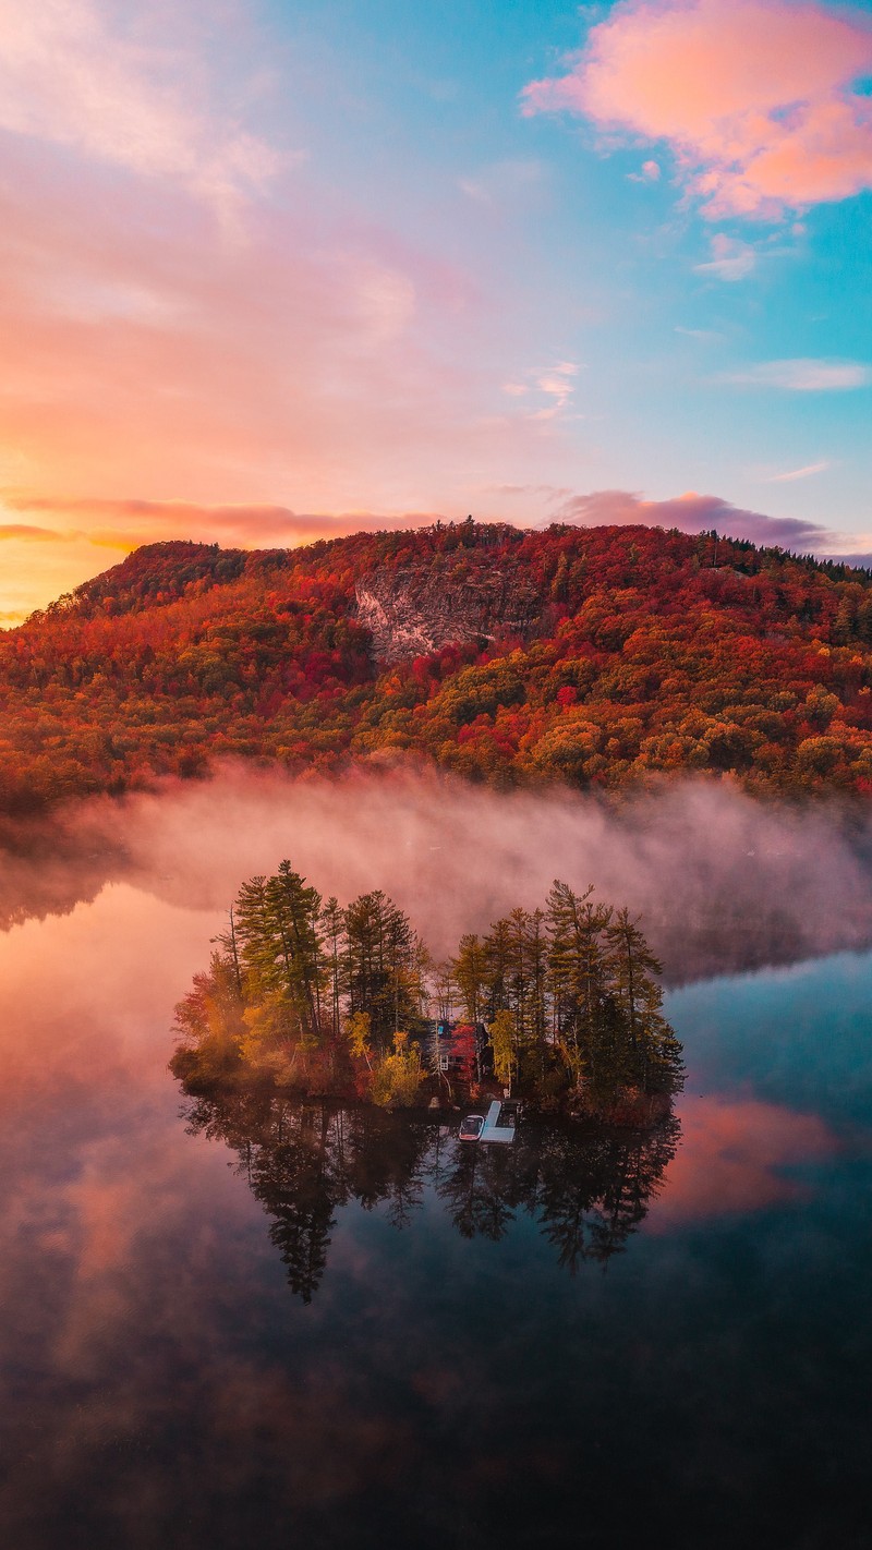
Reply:
[[0, 1542], [870, 1542], [872, 958], [692, 984], [680, 1135], [187, 1107], [208, 916], [0, 944]]

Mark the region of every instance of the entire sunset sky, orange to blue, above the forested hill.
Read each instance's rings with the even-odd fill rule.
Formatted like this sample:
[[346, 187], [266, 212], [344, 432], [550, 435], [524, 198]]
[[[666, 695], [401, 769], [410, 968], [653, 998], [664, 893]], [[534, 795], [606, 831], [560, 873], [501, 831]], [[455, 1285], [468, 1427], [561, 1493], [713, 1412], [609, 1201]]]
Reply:
[[434, 516], [872, 553], [872, 0], [0, 0], [0, 625]]

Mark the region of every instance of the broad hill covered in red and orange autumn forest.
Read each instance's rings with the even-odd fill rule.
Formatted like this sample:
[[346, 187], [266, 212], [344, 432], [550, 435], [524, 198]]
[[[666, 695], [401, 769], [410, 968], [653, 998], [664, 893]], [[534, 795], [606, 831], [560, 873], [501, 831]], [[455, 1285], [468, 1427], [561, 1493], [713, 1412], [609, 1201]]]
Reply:
[[872, 575], [647, 527], [136, 550], [0, 636], [0, 811], [221, 756], [872, 792]]

